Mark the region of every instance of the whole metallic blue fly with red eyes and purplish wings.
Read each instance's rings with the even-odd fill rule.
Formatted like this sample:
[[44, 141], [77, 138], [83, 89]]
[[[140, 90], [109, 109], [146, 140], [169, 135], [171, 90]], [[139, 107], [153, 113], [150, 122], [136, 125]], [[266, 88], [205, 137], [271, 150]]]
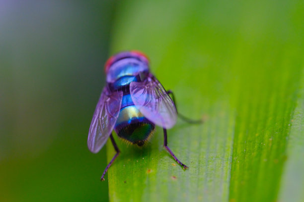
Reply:
[[[99, 152], [109, 137], [116, 151], [101, 180], [120, 153], [112, 136], [113, 130], [120, 138], [142, 147], [155, 125], [162, 127], [164, 148], [183, 169], [187, 169], [188, 166], [167, 146], [167, 129], [172, 128], [177, 119], [174, 95], [152, 75], [148, 57], [139, 51], [120, 52], [108, 59], [105, 73], [106, 86], [96, 105], [87, 139], [87, 146], [93, 153]], [[189, 123], [202, 123], [179, 116]]]

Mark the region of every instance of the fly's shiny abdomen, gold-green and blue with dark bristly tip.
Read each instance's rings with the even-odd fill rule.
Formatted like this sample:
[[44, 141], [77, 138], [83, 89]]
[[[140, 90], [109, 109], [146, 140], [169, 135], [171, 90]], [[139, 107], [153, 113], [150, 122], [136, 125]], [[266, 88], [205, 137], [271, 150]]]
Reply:
[[115, 132], [120, 138], [143, 146], [151, 136], [155, 125], [135, 105], [122, 108], [119, 112]]

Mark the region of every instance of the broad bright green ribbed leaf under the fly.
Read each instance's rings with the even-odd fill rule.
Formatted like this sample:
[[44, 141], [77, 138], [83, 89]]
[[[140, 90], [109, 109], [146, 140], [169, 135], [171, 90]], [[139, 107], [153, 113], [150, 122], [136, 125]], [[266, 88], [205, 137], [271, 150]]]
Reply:
[[[163, 149], [161, 128], [144, 148], [115, 135], [121, 154], [108, 172], [111, 201], [304, 200], [300, 8], [294, 1], [120, 2], [111, 52], [146, 52], [179, 112], [205, 123], [178, 120], [168, 130], [186, 171]], [[114, 154], [108, 143], [108, 161]]]

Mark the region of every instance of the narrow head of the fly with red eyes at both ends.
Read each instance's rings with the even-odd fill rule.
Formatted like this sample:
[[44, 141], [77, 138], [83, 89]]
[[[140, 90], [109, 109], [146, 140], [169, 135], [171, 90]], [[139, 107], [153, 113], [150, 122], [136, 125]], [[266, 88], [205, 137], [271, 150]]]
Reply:
[[112, 55], [105, 63], [104, 65], [104, 71], [105, 73], [108, 73], [108, 70], [110, 68], [110, 66], [117, 60], [122, 59], [124, 57], [138, 57], [144, 61], [146, 61], [147, 63], [149, 63], [149, 57], [138, 50], [131, 50], [131, 51], [124, 51], [124, 52], [119, 52], [115, 55]]

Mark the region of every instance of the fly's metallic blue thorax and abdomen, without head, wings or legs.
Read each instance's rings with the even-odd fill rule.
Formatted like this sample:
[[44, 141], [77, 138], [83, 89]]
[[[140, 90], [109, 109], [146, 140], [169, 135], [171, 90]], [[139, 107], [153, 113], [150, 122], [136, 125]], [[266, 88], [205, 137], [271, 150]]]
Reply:
[[119, 137], [143, 146], [155, 125], [134, 105], [130, 83], [141, 82], [149, 73], [148, 64], [137, 58], [124, 58], [114, 62], [107, 73], [107, 83], [112, 91], [123, 91], [120, 112], [114, 126]]

